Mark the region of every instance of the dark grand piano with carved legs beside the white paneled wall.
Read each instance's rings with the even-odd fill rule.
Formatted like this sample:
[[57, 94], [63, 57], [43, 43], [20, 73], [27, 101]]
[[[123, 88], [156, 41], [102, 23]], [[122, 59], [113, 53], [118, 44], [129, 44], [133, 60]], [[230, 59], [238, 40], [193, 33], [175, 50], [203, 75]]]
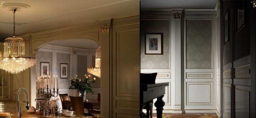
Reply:
[[[165, 87], [169, 86], [168, 82], [155, 83], [157, 73], [140, 74], [140, 118], [152, 118], [153, 99], [155, 102], [156, 116], [162, 118], [164, 101], [162, 98], [165, 94]], [[146, 114], [142, 111], [146, 109]]]

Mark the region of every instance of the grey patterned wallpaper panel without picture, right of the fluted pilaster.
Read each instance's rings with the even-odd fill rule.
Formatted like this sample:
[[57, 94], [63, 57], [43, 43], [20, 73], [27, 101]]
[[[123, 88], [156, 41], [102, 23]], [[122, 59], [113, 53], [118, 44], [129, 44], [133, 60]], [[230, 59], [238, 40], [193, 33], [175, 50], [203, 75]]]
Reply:
[[212, 20], [186, 20], [186, 68], [212, 68]]

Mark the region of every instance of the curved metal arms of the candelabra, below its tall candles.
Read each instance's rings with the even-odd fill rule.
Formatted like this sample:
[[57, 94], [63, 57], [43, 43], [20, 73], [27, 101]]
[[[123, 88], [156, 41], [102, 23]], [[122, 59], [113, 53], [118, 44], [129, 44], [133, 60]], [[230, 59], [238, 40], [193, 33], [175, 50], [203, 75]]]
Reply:
[[[51, 89], [48, 88], [48, 85], [46, 85], [46, 92], [44, 92], [44, 88], [40, 88], [40, 90], [37, 90], [37, 96], [38, 97], [44, 97], [47, 98], [47, 100], [51, 97], [57, 97], [59, 93], [59, 89], [56, 89], [57, 91], [55, 92], [55, 88], [53, 88], [53, 92]], [[56, 93], [56, 96], [55, 96]], [[40, 94], [40, 95], [39, 95]]]

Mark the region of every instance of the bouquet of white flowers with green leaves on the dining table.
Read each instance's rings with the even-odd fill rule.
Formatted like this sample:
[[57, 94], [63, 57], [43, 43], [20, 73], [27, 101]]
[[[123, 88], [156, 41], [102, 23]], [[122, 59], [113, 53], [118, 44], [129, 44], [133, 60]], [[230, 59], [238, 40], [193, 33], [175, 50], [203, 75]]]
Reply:
[[[96, 78], [93, 78], [96, 80]], [[90, 75], [84, 75], [83, 78], [78, 78], [78, 75], [76, 75], [74, 78], [71, 77], [70, 82], [71, 86], [68, 89], [76, 89], [79, 93], [84, 94], [84, 91], [87, 93], [93, 93], [92, 91], [92, 84], [95, 82], [94, 80], [90, 79]]]

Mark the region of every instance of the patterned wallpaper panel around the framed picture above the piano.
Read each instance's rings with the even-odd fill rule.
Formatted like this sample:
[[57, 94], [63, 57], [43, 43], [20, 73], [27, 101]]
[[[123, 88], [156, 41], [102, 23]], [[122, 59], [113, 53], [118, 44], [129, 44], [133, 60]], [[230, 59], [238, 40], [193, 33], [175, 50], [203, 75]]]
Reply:
[[[163, 55], [145, 55], [145, 33], [163, 33]], [[140, 20], [140, 68], [170, 68], [170, 20]]]

